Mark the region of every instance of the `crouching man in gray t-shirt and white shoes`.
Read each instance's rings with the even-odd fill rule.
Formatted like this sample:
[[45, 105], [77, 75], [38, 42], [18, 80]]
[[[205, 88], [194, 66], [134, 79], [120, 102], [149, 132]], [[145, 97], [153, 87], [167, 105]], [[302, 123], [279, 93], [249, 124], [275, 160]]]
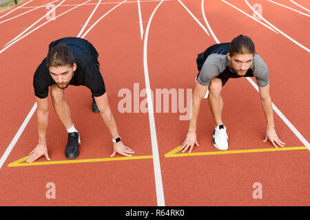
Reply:
[[196, 62], [199, 73], [193, 92], [192, 118], [189, 120], [187, 136], [180, 151], [185, 152], [189, 148], [189, 152], [192, 152], [195, 144], [199, 146], [196, 137], [196, 122], [200, 102], [203, 98], [208, 98], [215, 122], [214, 146], [220, 151], [228, 149], [228, 135], [222, 120], [223, 98], [220, 96], [220, 92], [229, 78], [250, 76], [256, 78], [267, 122], [266, 137], [263, 141], [269, 140], [276, 148], [285, 145], [279, 139], [274, 128], [272, 102], [269, 94], [269, 70], [256, 53], [254, 43], [248, 36], [239, 35], [231, 43], [211, 45], [205, 52], [198, 54]]

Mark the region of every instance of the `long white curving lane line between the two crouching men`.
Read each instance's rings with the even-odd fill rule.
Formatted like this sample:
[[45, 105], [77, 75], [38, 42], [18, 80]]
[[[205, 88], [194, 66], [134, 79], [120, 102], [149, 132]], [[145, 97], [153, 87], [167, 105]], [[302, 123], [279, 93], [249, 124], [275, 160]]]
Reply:
[[145, 89], [147, 91], [147, 111], [149, 112], [149, 129], [151, 131], [151, 141], [152, 141], [152, 153], [153, 153], [153, 164], [154, 164], [154, 175], [156, 184], [156, 196], [157, 196], [157, 206], [165, 206], [165, 197], [163, 193], [163, 180], [161, 178], [161, 164], [159, 162], [158, 154], [158, 143], [156, 136], [156, 126], [154, 120], [154, 107], [152, 101], [151, 87], [149, 85], [149, 69], [147, 67], [147, 38], [149, 36], [149, 27], [151, 25], [152, 19], [159, 5], [163, 3], [162, 0], [156, 8], [154, 9], [149, 21], [147, 23], [147, 28], [145, 30], [144, 37], [144, 47], [143, 47], [143, 66], [144, 66], [144, 76], [145, 76]]

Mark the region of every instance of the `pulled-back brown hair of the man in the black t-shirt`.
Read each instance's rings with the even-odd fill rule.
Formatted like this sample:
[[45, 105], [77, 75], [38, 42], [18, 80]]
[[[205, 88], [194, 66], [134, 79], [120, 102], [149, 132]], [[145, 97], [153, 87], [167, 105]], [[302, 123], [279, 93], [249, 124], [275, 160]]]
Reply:
[[48, 67], [73, 67], [74, 56], [67, 45], [56, 45], [48, 51], [46, 63]]

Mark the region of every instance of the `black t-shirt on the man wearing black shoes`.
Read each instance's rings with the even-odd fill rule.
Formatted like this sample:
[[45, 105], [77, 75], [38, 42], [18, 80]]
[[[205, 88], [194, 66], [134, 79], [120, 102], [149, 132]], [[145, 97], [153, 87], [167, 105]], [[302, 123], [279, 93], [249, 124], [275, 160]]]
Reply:
[[[99, 71], [99, 62], [97, 61], [98, 52], [94, 46], [86, 41], [76, 37], [66, 37], [53, 41], [49, 45], [49, 50], [55, 45], [67, 45], [75, 59], [76, 70], [69, 85], [85, 85], [92, 91], [93, 96], [102, 96], [105, 94], [105, 83]], [[33, 77], [34, 94], [39, 98], [48, 97], [48, 87], [55, 84], [50, 71], [46, 65], [46, 58], [43, 59]]]

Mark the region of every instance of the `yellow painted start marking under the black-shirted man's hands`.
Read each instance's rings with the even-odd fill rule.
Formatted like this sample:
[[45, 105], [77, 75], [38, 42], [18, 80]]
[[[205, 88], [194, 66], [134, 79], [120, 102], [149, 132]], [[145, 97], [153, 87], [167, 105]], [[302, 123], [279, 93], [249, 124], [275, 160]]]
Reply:
[[127, 159], [151, 159], [152, 155], [147, 156], [132, 156], [132, 157], [105, 157], [105, 158], [95, 158], [95, 159], [68, 159], [68, 160], [57, 160], [57, 161], [46, 161], [46, 162], [32, 162], [32, 163], [22, 163], [30, 155], [18, 159], [10, 164], [12, 166], [35, 166], [35, 165], [52, 165], [52, 164], [78, 164], [78, 163], [90, 163], [90, 162], [105, 162], [105, 161], [116, 161], [116, 160], [127, 160]]

